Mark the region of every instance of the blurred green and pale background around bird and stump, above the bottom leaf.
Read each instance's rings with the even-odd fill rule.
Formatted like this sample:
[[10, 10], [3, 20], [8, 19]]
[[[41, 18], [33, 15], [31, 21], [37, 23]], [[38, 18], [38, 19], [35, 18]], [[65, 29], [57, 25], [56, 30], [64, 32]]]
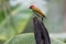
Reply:
[[[0, 44], [11, 43], [10, 38], [14, 38], [15, 35], [34, 32], [34, 14], [29, 9], [31, 4], [36, 4], [36, 7], [45, 13], [47, 19], [44, 20], [44, 23], [50, 36], [57, 38], [62, 44], [66, 44], [66, 11], [64, 1], [65, 0], [0, 0]], [[58, 42], [54, 44], [61, 44]]]

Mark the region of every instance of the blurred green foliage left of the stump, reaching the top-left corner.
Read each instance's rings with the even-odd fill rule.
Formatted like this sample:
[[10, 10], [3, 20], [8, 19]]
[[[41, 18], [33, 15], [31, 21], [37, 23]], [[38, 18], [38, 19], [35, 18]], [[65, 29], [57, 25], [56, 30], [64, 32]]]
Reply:
[[20, 3], [11, 7], [9, 0], [0, 1], [0, 40], [8, 40], [24, 31], [31, 13], [29, 13], [29, 16], [28, 13], [21, 12]]

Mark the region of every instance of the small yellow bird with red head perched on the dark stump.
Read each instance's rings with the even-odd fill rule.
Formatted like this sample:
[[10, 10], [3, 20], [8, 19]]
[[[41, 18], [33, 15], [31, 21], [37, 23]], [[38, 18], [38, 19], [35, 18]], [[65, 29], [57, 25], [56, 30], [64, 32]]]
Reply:
[[35, 4], [31, 4], [30, 6], [30, 9], [40, 18], [42, 18], [42, 21], [43, 21], [43, 18], [46, 18], [45, 14], [43, 13], [43, 11], [41, 9], [38, 9]]

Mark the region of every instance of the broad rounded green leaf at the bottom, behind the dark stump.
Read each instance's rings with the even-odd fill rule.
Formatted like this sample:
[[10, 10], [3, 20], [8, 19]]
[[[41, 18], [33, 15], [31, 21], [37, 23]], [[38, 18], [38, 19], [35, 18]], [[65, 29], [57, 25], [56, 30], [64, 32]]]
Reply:
[[[52, 44], [65, 44], [62, 41], [51, 37]], [[4, 44], [35, 44], [35, 38], [33, 33], [20, 34], [8, 40]]]

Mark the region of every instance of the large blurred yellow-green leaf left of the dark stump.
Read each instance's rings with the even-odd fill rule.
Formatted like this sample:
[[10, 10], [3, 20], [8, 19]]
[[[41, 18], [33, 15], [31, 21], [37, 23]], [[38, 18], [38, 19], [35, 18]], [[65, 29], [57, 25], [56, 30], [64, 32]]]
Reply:
[[11, 36], [22, 33], [26, 26], [31, 13], [20, 13], [22, 9], [20, 6], [15, 7], [15, 9], [13, 8], [14, 10], [7, 13], [7, 16], [0, 23], [0, 40], [6, 41]]

